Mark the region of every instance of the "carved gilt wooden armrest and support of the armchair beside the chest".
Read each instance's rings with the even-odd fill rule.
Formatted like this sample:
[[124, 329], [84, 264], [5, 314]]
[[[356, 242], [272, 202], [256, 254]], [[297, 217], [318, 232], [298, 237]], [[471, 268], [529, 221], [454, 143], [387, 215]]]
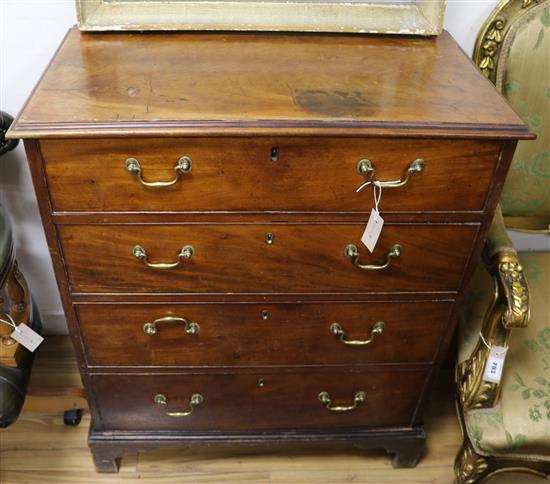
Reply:
[[491, 224], [484, 249], [484, 263], [493, 280], [493, 297], [481, 335], [468, 359], [457, 367], [459, 399], [464, 411], [492, 408], [498, 403], [500, 385], [483, 379], [490, 347], [508, 347], [510, 330], [529, 322], [529, 288], [517, 252], [506, 233], [500, 207]]

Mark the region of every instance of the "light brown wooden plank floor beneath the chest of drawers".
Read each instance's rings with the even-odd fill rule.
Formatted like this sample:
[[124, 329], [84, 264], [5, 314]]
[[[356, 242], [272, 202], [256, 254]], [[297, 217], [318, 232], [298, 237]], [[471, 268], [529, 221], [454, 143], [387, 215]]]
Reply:
[[[38, 353], [21, 417], [0, 431], [0, 482], [447, 484], [461, 440], [448, 373], [431, 401], [428, 450], [415, 469], [392, 469], [381, 450], [215, 446], [127, 455], [119, 474], [96, 474], [86, 445], [89, 416], [85, 414], [78, 427], [63, 425], [63, 410], [86, 405], [70, 342], [67, 337], [49, 337]], [[492, 482], [535, 484], [542, 479], [507, 474]]]

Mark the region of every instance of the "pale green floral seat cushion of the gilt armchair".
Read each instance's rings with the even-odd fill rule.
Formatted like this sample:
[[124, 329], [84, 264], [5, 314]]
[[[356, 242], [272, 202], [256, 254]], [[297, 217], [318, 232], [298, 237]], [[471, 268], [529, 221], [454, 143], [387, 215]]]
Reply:
[[[531, 320], [512, 330], [499, 404], [465, 413], [476, 452], [550, 461], [550, 252], [519, 254], [531, 295]], [[459, 326], [459, 361], [478, 339], [493, 282], [482, 264], [470, 284]]]

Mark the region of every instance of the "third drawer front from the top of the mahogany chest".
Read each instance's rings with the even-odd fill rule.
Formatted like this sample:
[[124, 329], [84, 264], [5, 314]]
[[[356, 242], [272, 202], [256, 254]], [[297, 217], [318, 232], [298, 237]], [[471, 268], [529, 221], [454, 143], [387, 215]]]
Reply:
[[90, 365], [338, 365], [431, 362], [451, 304], [83, 304], [77, 312]]

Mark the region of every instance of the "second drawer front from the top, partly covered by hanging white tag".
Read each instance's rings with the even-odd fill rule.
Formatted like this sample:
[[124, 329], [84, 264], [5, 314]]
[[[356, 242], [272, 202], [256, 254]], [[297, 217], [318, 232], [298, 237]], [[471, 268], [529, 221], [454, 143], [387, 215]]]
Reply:
[[[373, 254], [364, 224], [60, 226], [78, 293], [368, 293], [456, 291], [475, 225], [387, 224]], [[272, 234], [271, 243], [266, 234]], [[348, 257], [356, 244], [359, 258]], [[391, 248], [401, 255], [381, 270]], [[194, 252], [183, 251], [191, 245]], [[141, 247], [135, 252], [136, 246]], [[185, 258], [185, 254], [190, 258]], [[140, 256], [141, 258], [138, 258]], [[179, 265], [151, 268], [158, 263]]]

